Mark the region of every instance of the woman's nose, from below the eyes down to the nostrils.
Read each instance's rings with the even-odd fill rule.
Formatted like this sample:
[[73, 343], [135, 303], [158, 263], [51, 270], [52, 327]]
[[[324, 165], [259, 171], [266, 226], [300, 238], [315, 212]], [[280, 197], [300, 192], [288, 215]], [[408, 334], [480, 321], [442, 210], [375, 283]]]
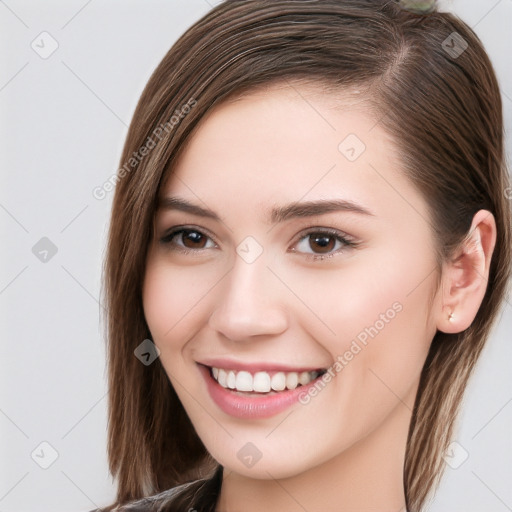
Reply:
[[237, 256], [234, 267], [218, 286], [209, 326], [224, 337], [246, 341], [287, 329], [282, 290], [263, 257], [246, 263]]

